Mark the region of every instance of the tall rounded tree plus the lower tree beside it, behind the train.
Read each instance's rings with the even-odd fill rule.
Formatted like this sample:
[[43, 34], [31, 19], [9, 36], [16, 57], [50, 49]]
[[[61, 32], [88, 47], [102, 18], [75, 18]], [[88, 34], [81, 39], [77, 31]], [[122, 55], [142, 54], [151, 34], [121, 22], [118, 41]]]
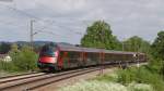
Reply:
[[81, 46], [87, 48], [148, 53], [151, 43], [138, 36], [120, 41], [113, 35], [109, 24], [104, 21], [97, 21], [86, 28], [86, 34], [81, 39]]

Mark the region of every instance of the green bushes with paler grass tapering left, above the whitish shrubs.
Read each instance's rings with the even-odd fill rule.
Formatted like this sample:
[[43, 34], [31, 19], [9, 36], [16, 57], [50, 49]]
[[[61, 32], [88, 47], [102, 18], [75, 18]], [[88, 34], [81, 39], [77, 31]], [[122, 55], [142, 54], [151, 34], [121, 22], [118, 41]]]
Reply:
[[[154, 67], [147, 65], [141, 67], [130, 67], [127, 69], [119, 69], [115, 74], [103, 75], [96, 77], [94, 80], [106, 82], [119, 82], [124, 86], [132, 87], [134, 83], [150, 84], [155, 91], [163, 91], [164, 81], [162, 76], [154, 69]], [[131, 86], [132, 83], [132, 86]], [[144, 90], [130, 90], [144, 91]], [[147, 91], [147, 90], [145, 90]]]

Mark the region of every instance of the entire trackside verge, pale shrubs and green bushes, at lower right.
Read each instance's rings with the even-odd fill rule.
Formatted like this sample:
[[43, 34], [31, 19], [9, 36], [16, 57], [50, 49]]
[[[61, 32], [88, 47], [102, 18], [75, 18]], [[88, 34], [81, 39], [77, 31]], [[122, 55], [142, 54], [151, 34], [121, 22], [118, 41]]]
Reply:
[[113, 74], [80, 81], [59, 91], [163, 91], [162, 76], [150, 66], [118, 69]]

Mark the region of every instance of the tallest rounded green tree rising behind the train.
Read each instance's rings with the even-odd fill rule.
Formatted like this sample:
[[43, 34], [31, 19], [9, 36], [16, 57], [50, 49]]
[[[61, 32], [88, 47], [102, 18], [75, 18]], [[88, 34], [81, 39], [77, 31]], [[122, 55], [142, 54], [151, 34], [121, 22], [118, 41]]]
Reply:
[[104, 21], [97, 21], [87, 27], [86, 34], [81, 39], [81, 46], [114, 50], [118, 49], [120, 43], [119, 40], [113, 36], [110, 26]]

